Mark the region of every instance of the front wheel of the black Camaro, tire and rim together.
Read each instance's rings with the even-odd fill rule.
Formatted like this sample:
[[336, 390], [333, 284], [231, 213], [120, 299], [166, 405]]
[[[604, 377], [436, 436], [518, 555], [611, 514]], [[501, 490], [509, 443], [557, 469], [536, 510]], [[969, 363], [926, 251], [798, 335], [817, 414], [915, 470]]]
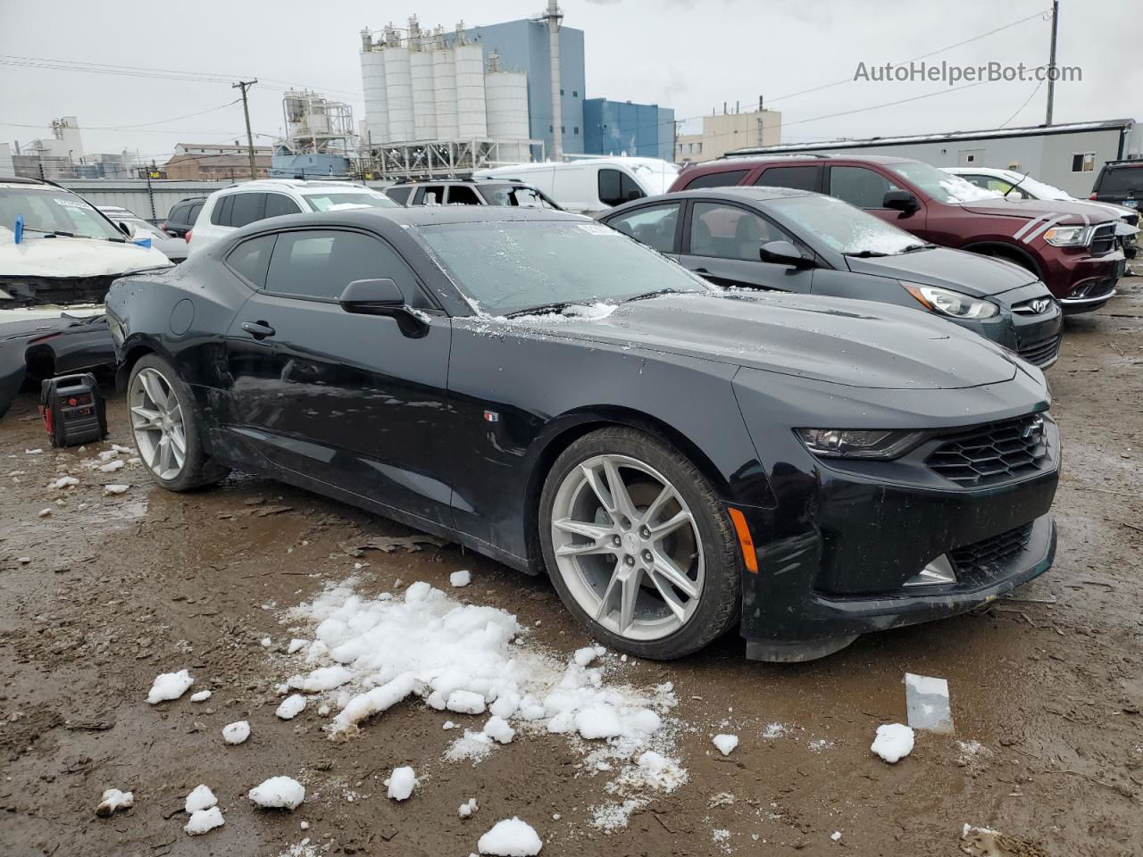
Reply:
[[679, 658], [736, 619], [734, 528], [711, 483], [669, 443], [624, 426], [591, 432], [555, 459], [539, 503], [552, 583], [607, 646]]

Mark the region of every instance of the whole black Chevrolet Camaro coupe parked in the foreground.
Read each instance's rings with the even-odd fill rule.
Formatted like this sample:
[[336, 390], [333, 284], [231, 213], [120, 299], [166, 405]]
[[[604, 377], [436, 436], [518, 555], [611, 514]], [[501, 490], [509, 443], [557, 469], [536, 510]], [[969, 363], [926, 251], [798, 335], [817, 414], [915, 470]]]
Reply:
[[925, 313], [725, 291], [554, 211], [253, 224], [107, 315], [144, 463], [261, 473], [547, 574], [601, 641], [821, 657], [1046, 570], [1041, 373]]

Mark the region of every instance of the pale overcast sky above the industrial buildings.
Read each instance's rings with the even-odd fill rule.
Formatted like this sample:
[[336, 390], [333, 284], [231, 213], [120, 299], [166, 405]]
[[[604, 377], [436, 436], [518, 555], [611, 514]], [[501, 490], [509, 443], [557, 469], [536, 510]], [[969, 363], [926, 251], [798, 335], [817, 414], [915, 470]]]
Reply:
[[[256, 142], [269, 144], [280, 133], [281, 91], [289, 85], [345, 99], [354, 119], [363, 118], [358, 59], [362, 26], [378, 29], [390, 17], [405, 26], [410, 14], [419, 16], [422, 26], [451, 27], [462, 18], [466, 24], [491, 24], [528, 17], [542, 5], [195, 0], [166, 6], [112, 2], [96, 10], [89, 0], [0, 0], [0, 142], [50, 136], [53, 118], [75, 115], [88, 152], [126, 147], [161, 162], [175, 143], [245, 137], [241, 106], [222, 106], [237, 96], [227, 81], [242, 75], [264, 81], [251, 89], [250, 109], [254, 130], [262, 135]], [[1047, 13], [1049, 0], [562, 0], [561, 6], [565, 23], [585, 33], [588, 97], [654, 102], [673, 107], [678, 119], [721, 110], [724, 102], [733, 110], [741, 101], [746, 109], [762, 95], [767, 106], [783, 113], [783, 142], [1044, 121], [1047, 85], [1033, 95], [1032, 81], [948, 91], [944, 82], [852, 78], [861, 62], [884, 65], [930, 51], [938, 51], [927, 57], [930, 63], [1042, 64], [1050, 25], [1047, 15], [1037, 13]], [[941, 50], [1031, 15], [1036, 17]], [[1143, 119], [1141, 43], [1138, 0], [1062, 0], [1057, 63], [1079, 66], [1082, 82], [1057, 83], [1055, 121]], [[41, 65], [113, 64], [203, 79], [3, 64], [13, 56], [34, 57], [31, 62]], [[837, 81], [846, 82], [794, 95]], [[200, 111], [210, 112], [175, 119]], [[848, 111], [860, 112], [833, 115]]]

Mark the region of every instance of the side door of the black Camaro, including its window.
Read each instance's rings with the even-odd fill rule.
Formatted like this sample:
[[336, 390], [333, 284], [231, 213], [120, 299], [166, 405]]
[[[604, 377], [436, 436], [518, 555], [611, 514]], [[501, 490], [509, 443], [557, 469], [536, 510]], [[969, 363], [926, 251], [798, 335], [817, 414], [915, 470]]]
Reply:
[[[246, 261], [250, 241], [226, 258], [250, 271], [245, 279], [255, 287], [226, 334], [231, 431], [295, 474], [451, 526], [440, 428], [448, 318], [397, 250], [371, 233], [270, 234], [265, 263]], [[337, 303], [350, 282], [381, 278], [423, 311], [419, 335], [402, 333], [394, 318], [350, 313]]]

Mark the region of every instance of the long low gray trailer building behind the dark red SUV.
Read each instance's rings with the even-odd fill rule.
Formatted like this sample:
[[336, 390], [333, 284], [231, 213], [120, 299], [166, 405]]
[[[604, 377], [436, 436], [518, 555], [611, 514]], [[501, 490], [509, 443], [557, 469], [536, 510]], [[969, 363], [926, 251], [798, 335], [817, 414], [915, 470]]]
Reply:
[[887, 154], [934, 167], [998, 167], [1028, 173], [1073, 197], [1086, 198], [1106, 161], [1143, 158], [1143, 126], [1134, 119], [996, 128], [908, 137], [870, 137], [825, 143], [784, 143], [738, 149], [728, 155]]

